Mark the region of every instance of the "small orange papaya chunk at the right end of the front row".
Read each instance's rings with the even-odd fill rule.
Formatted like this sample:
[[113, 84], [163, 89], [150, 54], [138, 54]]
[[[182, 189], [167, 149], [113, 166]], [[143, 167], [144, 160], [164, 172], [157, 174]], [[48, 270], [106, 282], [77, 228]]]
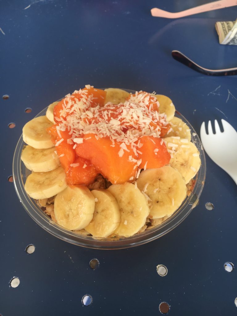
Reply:
[[139, 151], [142, 154], [138, 154], [138, 159], [142, 159], [142, 163], [139, 168], [144, 168], [145, 166], [147, 169], [161, 168], [169, 163], [170, 154], [161, 138], [142, 136], [140, 143], [142, 147], [139, 148]]

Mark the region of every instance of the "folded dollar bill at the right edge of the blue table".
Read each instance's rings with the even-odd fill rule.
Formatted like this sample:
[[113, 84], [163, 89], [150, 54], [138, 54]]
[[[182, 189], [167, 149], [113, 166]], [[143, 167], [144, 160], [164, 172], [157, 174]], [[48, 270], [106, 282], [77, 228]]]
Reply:
[[216, 22], [215, 27], [220, 44], [237, 45], [237, 20]]

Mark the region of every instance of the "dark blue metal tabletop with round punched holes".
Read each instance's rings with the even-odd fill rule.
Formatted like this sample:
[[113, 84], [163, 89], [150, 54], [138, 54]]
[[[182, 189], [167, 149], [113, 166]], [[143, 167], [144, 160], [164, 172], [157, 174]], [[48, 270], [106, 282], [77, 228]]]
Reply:
[[[216, 21], [236, 19], [237, 6], [177, 20], [150, 14], [153, 7], [174, 12], [206, 2], [0, 2], [1, 315], [159, 315], [162, 301], [169, 315], [237, 314], [237, 271], [224, 270], [225, 262], [237, 265], [236, 185], [208, 156], [204, 191], [185, 221], [123, 250], [86, 249], [50, 235], [8, 182], [23, 125], [85, 84], [168, 95], [198, 134], [209, 119], [226, 119], [237, 130], [237, 77], [204, 76], [171, 57], [179, 50], [206, 68], [237, 67], [237, 46], [220, 45], [215, 30]], [[29, 244], [33, 254], [25, 252]], [[89, 267], [93, 258], [100, 261], [96, 270]], [[158, 264], [167, 266], [167, 276], [157, 274]], [[85, 294], [93, 298], [88, 307]]]

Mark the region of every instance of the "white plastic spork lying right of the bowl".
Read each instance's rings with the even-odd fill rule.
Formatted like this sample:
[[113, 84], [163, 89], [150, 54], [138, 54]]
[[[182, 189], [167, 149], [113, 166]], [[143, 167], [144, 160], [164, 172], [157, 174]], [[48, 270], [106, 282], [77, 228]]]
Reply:
[[223, 132], [215, 120], [216, 134], [213, 134], [211, 121], [209, 121], [207, 135], [203, 122], [200, 130], [201, 141], [209, 157], [224, 169], [237, 184], [237, 132], [224, 119], [222, 119], [222, 125]]

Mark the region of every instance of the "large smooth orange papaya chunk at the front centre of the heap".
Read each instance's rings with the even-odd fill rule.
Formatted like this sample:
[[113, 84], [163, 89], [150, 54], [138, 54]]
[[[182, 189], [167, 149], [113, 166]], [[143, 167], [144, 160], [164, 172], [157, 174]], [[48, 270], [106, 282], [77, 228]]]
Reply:
[[96, 139], [94, 134], [87, 134], [83, 143], [77, 144], [76, 154], [88, 159], [111, 183], [121, 184], [135, 177], [137, 155], [131, 146], [127, 145], [126, 151], [120, 145], [117, 142], [113, 144], [109, 137]]

